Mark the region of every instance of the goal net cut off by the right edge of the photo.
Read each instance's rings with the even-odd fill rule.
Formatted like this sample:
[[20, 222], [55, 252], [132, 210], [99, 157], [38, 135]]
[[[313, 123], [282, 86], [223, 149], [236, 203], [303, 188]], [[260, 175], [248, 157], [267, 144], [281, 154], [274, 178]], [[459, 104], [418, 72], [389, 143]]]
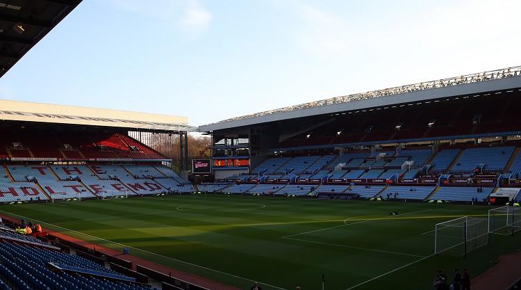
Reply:
[[521, 229], [521, 209], [507, 205], [488, 211], [488, 232], [510, 235]]

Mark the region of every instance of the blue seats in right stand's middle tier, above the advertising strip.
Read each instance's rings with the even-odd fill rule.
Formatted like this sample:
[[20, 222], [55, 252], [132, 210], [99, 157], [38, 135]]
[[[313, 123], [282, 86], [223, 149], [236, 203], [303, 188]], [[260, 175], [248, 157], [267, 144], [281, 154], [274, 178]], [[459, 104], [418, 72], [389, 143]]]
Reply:
[[[381, 152], [349, 152], [338, 155], [274, 157], [267, 159], [253, 170], [254, 174], [270, 178], [382, 178], [389, 179], [395, 173], [405, 178], [414, 178], [420, 169], [429, 161], [429, 172], [472, 173], [474, 168], [482, 165], [485, 172], [502, 172], [515, 150], [514, 146], [471, 147], [465, 150], [441, 149], [429, 161], [431, 149], [406, 149], [398, 154], [386, 150]], [[384, 159], [376, 156], [385, 155]], [[395, 155], [395, 156], [393, 156]], [[377, 158], [377, 159], [375, 159]], [[455, 160], [457, 159], [457, 160]], [[410, 170], [401, 168], [406, 161], [413, 161]], [[334, 170], [339, 164], [350, 170]], [[356, 169], [358, 168], [358, 169]], [[383, 170], [382, 170], [383, 168]], [[521, 173], [521, 156], [513, 162], [511, 172]], [[136, 172], [141, 173], [142, 172]], [[403, 174], [403, 175], [402, 175]]]

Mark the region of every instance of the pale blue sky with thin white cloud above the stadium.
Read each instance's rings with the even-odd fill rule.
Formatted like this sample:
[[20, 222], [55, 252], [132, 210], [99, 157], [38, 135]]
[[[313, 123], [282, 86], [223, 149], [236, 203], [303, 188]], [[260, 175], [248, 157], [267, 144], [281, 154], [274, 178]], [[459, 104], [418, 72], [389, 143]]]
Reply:
[[521, 65], [521, 1], [84, 0], [0, 99], [200, 125]]

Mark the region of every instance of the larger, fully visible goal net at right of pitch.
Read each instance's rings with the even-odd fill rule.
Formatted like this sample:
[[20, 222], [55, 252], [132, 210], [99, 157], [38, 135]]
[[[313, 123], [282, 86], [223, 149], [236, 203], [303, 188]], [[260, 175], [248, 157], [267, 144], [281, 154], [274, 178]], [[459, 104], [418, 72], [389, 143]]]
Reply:
[[436, 224], [434, 253], [462, 257], [488, 244], [486, 218], [463, 216]]

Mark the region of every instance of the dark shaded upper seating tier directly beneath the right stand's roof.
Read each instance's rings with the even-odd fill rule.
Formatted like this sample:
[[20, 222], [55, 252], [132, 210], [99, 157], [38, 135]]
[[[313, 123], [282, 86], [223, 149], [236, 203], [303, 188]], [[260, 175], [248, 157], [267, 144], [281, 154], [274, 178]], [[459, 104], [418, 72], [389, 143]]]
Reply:
[[[487, 97], [472, 97], [458, 99], [457, 102], [437, 102], [434, 104], [435, 110], [433, 103], [427, 102], [415, 106], [327, 115], [324, 118], [298, 119], [285, 124], [287, 129], [284, 133], [301, 131], [301, 134], [281, 141], [275, 148], [518, 131], [521, 127], [518, 118], [521, 102], [516, 101], [518, 94], [516, 91], [513, 94], [495, 95], [493, 106]], [[481, 115], [477, 124], [472, 122], [476, 115]], [[428, 126], [433, 120], [433, 125]], [[305, 127], [310, 129], [299, 130]]]

